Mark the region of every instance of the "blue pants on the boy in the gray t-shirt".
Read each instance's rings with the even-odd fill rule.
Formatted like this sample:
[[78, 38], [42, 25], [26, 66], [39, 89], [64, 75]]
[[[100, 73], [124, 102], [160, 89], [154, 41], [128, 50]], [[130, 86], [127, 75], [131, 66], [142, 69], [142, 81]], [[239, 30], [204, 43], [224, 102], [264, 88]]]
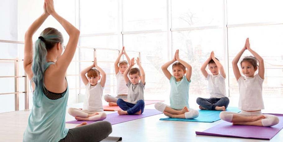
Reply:
[[144, 109], [144, 101], [143, 100], [138, 100], [136, 104], [128, 103], [124, 101], [123, 99], [119, 98], [117, 100], [117, 105], [128, 112], [129, 115], [135, 114], [136, 112], [141, 110], [141, 113], [143, 112]]

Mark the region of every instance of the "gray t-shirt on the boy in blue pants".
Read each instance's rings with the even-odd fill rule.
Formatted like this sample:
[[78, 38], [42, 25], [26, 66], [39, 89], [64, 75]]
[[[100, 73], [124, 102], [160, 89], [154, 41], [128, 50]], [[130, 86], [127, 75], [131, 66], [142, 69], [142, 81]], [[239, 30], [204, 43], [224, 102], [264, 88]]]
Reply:
[[[146, 84], [146, 83], [145, 83]], [[139, 82], [138, 84], [133, 85], [131, 81], [129, 81], [126, 85], [129, 88], [128, 90], [128, 102], [132, 104], [136, 104], [138, 100], [144, 100], [143, 92], [144, 86]]]

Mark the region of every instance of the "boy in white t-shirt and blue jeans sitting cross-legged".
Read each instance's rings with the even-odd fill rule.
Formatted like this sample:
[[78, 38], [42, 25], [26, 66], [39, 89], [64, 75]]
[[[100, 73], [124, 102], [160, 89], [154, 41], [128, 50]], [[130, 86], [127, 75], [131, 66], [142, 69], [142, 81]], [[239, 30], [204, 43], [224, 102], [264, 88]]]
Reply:
[[[206, 66], [211, 74], [205, 70]], [[210, 98], [197, 98], [197, 104], [200, 109], [226, 111], [229, 104], [229, 98], [226, 97], [225, 90], [225, 71], [219, 60], [214, 57], [212, 51], [209, 58], [204, 62], [201, 71], [205, 79], [208, 81], [208, 89]], [[220, 72], [220, 73], [219, 73]]]

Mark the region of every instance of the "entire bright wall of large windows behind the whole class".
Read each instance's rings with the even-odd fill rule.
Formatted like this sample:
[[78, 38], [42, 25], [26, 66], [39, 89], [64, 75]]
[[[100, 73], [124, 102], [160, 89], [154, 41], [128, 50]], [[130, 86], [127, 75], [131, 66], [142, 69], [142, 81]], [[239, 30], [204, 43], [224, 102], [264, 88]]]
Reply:
[[[208, 85], [200, 67], [211, 51], [226, 71], [226, 92], [238, 96], [231, 62], [244, 46], [247, 37], [251, 48], [265, 61], [263, 95], [283, 97], [283, 2], [278, 0], [54, 0], [56, 11], [80, 29], [76, 54], [67, 70], [70, 87], [68, 104], [82, 102], [85, 85], [80, 71], [90, 66], [94, 57], [107, 73], [104, 94], [116, 95], [114, 62], [125, 46], [128, 55], [141, 57], [146, 71], [146, 99], [165, 99], [169, 96], [169, 80], [161, 66], [172, 59], [176, 49], [180, 57], [193, 66], [190, 95], [208, 97]], [[5, 5], [5, 6], [4, 6]], [[32, 10], [30, 6], [32, 5]], [[0, 23], [4, 28], [0, 40], [23, 41], [24, 33], [42, 12], [42, 1], [4, 1]], [[8, 12], [7, 12], [8, 11]], [[16, 11], [16, 12], [15, 12]], [[6, 14], [8, 13], [8, 14]], [[65, 44], [68, 35], [50, 16], [35, 33], [34, 41], [46, 27], [62, 32]], [[23, 58], [23, 45], [0, 42], [0, 59]], [[251, 55], [248, 51], [243, 56]], [[123, 57], [125, 60], [126, 58]], [[22, 66], [22, 62], [19, 62]], [[0, 62], [7, 71], [0, 76], [14, 75], [14, 62]], [[171, 71], [171, 66], [169, 71]], [[209, 70], [207, 69], [209, 72]], [[240, 70], [241, 71], [241, 70]], [[24, 75], [23, 69], [19, 73]], [[13, 78], [0, 78], [0, 93], [14, 91]], [[12, 86], [11, 86], [12, 84]], [[9, 86], [10, 85], [10, 86]], [[19, 83], [22, 89], [23, 83]], [[0, 95], [12, 102], [14, 94]], [[164, 96], [165, 95], [165, 96]], [[23, 94], [19, 94], [20, 108]], [[3, 98], [3, 99], [2, 99]], [[30, 94], [32, 105], [32, 94]], [[9, 100], [9, 101], [8, 101]], [[0, 108], [2, 103], [0, 102]], [[10, 111], [13, 108], [9, 109]], [[1, 112], [1, 110], [0, 110]]]

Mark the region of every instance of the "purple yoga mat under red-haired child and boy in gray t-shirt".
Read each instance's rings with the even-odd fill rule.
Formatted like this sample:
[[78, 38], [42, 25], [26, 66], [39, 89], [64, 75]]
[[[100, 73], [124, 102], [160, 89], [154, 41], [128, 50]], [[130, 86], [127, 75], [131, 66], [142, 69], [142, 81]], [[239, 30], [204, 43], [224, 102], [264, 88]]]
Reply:
[[[112, 125], [122, 123], [122, 122], [127, 122], [127, 121], [132, 121], [144, 117], [149, 117], [157, 114], [161, 114], [162, 112], [159, 112], [158, 110], [155, 109], [144, 109], [143, 113], [141, 115], [118, 115], [117, 112], [107, 114], [106, 119], [103, 121], [108, 121]], [[81, 124], [82, 122], [86, 122], [87, 124], [93, 123], [95, 121], [67, 121], [66, 123], [73, 123], [73, 124]]]

